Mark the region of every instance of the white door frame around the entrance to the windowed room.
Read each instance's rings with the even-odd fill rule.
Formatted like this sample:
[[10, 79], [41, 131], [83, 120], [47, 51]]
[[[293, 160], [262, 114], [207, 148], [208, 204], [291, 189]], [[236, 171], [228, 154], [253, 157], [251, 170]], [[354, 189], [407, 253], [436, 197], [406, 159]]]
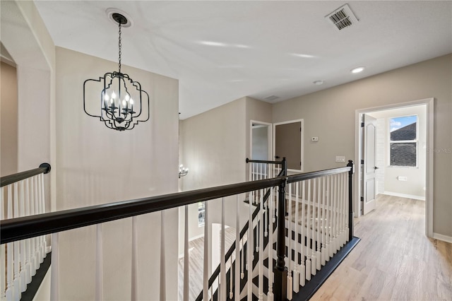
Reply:
[[[362, 141], [361, 141], [361, 122], [362, 115], [365, 113], [371, 113], [381, 110], [391, 110], [399, 107], [412, 107], [415, 105], [426, 105], [427, 108], [427, 149], [434, 149], [434, 98], [424, 98], [421, 100], [414, 100], [410, 102], [399, 102], [391, 105], [383, 105], [379, 107], [369, 107], [367, 109], [355, 110], [355, 165], [361, 163], [362, 160]], [[425, 235], [427, 237], [433, 238], [433, 153], [427, 152], [426, 158], [426, 191], [425, 191]], [[355, 167], [354, 179], [354, 189], [353, 189], [353, 211], [355, 211], [354, 216], [361, 216], [361, 202], [359, 201], [359, 196], [361, 195], [361, 183], [359, 182], [361, 175], [361, 168], [359, 165]]]

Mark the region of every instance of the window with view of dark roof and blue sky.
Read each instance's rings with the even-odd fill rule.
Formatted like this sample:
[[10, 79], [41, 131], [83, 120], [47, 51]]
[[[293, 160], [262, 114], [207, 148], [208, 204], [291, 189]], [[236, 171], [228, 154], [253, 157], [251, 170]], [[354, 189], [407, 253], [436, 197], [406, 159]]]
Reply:
[[417, 116], [389, 119], [389, 165], [417, 166]]

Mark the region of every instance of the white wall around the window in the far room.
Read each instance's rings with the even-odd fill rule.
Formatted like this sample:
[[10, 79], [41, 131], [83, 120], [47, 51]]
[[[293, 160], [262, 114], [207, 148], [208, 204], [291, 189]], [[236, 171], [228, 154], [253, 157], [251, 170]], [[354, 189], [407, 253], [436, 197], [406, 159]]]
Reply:
[[[379, 153], [383, 155], [383, 165], [379, 166], [384, 172], [384, 192], [386, 194], [425, 199], [425, 175], [426, 175], [426, 155], [427, 155], [427, 107], [419, 105], [415, 107], [403, 107], [394, 110], [384, 110], [373, 112], [371, 116], [383, 119], [383, 124], [377, 124], [378, 133], [383, 133], [383, 149]], [[389, 119], [393, 117], [417, 115], [418, 146], [417, 146], [417, 167], [396, 167], [389, 166]], [[381, 129], [382, 128], [382, 129]], [[378, 143], [377, 143], [378, 145]], [[378, 147], [377, 147], [378, 152]], [[378, 157], [379, 158], [379, 157]], [[399, 181], [398, 176], [407, 177], [407, 181]]]

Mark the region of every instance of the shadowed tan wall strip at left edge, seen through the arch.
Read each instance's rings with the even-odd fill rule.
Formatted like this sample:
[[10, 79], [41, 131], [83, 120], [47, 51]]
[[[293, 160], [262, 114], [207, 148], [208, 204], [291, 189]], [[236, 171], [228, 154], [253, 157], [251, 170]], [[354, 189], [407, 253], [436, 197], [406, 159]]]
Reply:
[[17, 71], [1, 62], [0, 75], [0, 175], [12, 175], [17, 169]]

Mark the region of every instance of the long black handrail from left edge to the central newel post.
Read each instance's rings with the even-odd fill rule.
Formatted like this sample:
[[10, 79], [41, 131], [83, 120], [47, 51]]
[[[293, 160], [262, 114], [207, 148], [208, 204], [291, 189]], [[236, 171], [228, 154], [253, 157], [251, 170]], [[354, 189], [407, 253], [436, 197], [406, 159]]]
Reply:
[[121, 218], [130, 218], [131, 216], [176, 208], [197, 203], [198, 201], [219, 199], [223, 196], [278, 186], [283, 181], [285, 181], [285, 177], [261, 179], [252, 182], [242, 182], [220, 187], [184, 191], [162, 196], [150, 196], [143, 199], [119, 201], [103, 205], [43, 213], [35, 216], [1, 220], [0, 244], [119, 220]]

